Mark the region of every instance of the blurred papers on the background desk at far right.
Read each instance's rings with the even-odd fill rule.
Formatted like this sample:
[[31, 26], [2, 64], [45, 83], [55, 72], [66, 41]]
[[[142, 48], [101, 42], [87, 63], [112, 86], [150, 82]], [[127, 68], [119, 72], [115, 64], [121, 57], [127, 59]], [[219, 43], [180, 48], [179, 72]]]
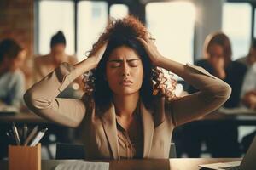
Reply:
[[232, 109], [221, 107], [218, 109], [218, 111], [227, 115], [256, 115], [256, 111], [248, 109], [245, 106], [235, 107]]

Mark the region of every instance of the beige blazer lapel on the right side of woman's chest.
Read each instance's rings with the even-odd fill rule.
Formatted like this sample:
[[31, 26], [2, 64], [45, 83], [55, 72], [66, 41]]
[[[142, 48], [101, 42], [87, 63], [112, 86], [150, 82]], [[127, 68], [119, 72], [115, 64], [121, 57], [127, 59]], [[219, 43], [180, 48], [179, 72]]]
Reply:
[[144, 133], [143, 158], [148, 158], [151, 150], [152, 139], [154, 134], [154, 120], [152, 114], [145, 108], [141, 102], [141, 113]]

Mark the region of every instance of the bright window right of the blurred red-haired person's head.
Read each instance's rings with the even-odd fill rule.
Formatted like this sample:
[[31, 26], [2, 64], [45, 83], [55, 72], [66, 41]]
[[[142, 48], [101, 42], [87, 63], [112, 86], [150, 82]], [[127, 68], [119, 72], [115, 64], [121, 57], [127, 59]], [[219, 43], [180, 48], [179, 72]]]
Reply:
[[223, 31], [230, 37], [232, 59], [247, 55], [251, 42], [251, 14], [249, 3], [224, 3]]

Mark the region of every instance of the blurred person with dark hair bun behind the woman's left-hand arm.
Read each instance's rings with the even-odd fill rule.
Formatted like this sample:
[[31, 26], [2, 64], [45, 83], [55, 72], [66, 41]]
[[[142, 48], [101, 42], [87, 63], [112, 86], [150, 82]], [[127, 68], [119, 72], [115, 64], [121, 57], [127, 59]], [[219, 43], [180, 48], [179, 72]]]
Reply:
[[[35, 57], [34, 70], [35, 82], [40, 81], [46, 77], [51, 71], [63, 62], [74, 65], [78, 62], [75, 56], [67, 55], [65, 53], [66, 38], [62, 31], [58, 31], [50, 40], [50, 53]], [[61, 98], [79, 98], [79, 89], [83, 88], [82, 78], [78, 77], [66, 90], [64, 90], [59, 97]]]

